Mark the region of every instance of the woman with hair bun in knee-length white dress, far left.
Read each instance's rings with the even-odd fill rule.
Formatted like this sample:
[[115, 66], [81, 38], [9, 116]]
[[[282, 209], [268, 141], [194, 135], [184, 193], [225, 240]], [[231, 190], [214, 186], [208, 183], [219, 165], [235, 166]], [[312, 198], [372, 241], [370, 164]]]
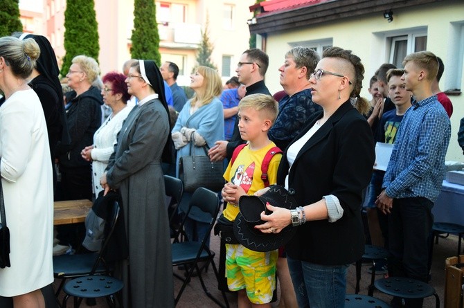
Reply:
[[53, 282], [53, 177], [44, 111], [26, 78], [40, 49], [34, 39], [0, 38], [0, 174], [10, 228], [11, 267], [0, 269], [0, 296], [13, 306], [45, 307]]

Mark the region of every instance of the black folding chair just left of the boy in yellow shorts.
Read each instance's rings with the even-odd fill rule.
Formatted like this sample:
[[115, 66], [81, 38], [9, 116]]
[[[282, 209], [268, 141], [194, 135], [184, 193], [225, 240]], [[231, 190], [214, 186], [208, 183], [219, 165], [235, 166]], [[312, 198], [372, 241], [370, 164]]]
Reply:
[[[212, 192], [211, 190], [208, 190], [206, 188], [198, 188], [195, 190], [195, 192], [192, 195], [192, 199], [190, 199], [190, 204], [188, 206], [188, 211], [186, 212], [186, 215], [184, 219], [182, 219], [181, 222], [181, 227], [177, 231], [177, 234], [175, 236], [175, 242], [172, 243], [172, 265], [173, 266], [178, 266], [178, 265], [184, 265], [188, 269], [186, 272], [186, 278], [181, 278], [179, 275], [176, 275], [177, 278], [181, 279], [184, 281], [182, 284], [182, 287], [177, 293], [177, 296], [175, 298], [175, 304], [177, 305], [177, 302], [179, 302], [179, 299], [181, 298], [182, 293], [184, 292], [184, 289], [186, 288], [187, 284], [190, 282], [190, 278], [192, 277], [193, 271], [196, 270], [198, 274], [198, 278], [200, 283], [202, 284], [202, 288], [204, 292], [206, 293], [206, 296], [211, 298], [217, 305], [220, 307], [229, 307], [229, 302], [226, 298], [226, 294], [224, 291], [221, 291], [222, 297], [224, 298], [224, 302], [220, 302], [220, 300], [217, 300], [206, 288], [206, 285], [204, 284], [203, 278], [202, 278], [202, 271], [200, 271], [198, 262], [206, 262], [206, 264], [211, 263], [211, 266], [213, 267], [213, 271], [216, 276], [216, 280], [218, 280], [218, 273], [217, 273], [217, 268], [214, 263], [214, 256], [215, 253], [211, 251], [208, 246], [206, 246], [206, 241], [208, 240], [208, 237], [211, 234], [211, 230], [213, 229], [213, 226], [216, 221], [217, 213], [219, 212], [220, 208], [220, 200], [219, 197], [217, 197], [217, 194], [215, 192]], [[199, 215], [202, 216], [201, 219], [199, 219]], [[208, 230], [204, 235], [204, 238], [202, 239], [201, 242], [178, 242], [177, 238], [179, 236], [179, 233], [181, 230], [184, 228], [185, 221], [188, 218], [193, 219], [195, 221], [204, 221], [205, 215], [208, 215], [209, 221], [209, 226]]]

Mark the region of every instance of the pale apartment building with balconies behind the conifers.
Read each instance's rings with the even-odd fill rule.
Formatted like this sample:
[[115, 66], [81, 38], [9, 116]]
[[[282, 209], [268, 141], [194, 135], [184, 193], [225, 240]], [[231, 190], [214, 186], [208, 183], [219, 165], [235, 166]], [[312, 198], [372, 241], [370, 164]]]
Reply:
[[[26, 0], [21, 0], [26, 2]], [[178, 83], [190, 84], [190, 73], [196, 63], [206, 19], [213, 44], [211, 60], [223, 80], [235, 75], [238, 57], [249, 48], [247, 20], [253, 0], [165, 0], [155, 1], [162, 61], [175, 62], [180, 69]], [[24, 10], [24, 9], [23, 9]], [[23, 12], [21, 10], [21, 12]], [[64, 11], [66, 0], [44, 0], [43, 28], [30, 31], [50, 40], [60, 63], [64, 50]], [[121, 71], [130, 59], [134, 21], [134, 0], [95, 0], [102, 74]], [[35, 17], [39, 19], [39, 17]]]

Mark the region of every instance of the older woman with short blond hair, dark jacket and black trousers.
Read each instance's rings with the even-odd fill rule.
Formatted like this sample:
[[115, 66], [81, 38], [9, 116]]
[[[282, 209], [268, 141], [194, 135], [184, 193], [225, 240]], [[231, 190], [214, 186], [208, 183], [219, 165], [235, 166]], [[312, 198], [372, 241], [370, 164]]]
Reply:
[[[92, 57], [78, 55], [73, 58], [66, 74], [68, 85], [73, 89], [64, 109], [71, 143], [58, 143], [56, 156], [61, 172], [61, 186], [57, 187], [56, 200], [92, 199], [91, 163], [80, 152], [91, 145], [93, 134], [102, 123], [103, 104], [100, 90], [92, 86], [100, 69]], [[84, 224], [57, 226], [60, 245], [78, 248], [84, 238]]]

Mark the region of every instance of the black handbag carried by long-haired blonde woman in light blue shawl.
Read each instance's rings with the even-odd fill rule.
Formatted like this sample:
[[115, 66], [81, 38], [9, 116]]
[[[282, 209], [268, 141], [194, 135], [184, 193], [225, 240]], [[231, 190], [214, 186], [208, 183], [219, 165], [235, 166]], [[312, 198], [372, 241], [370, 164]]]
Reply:
[[224, 167], [222, 161], [212, 162], [208, 156], [208, 147], [203, 146], [204, 155], [195, 156], [195, 141], [190, 143], [190, 156], [179, 158], [179, 179], [184, 182], [186, 192], [195, 192], [204, 187], [218, 192], [224, 187]]

